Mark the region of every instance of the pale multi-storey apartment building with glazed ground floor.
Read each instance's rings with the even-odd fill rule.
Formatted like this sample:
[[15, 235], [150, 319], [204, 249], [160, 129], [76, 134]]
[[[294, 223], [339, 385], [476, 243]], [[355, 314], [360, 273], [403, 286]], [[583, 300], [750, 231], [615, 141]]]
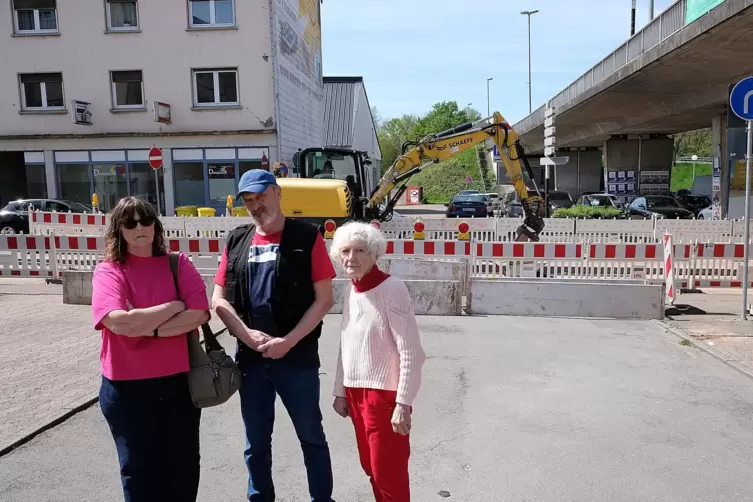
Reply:
[[223, 210], [248, 169], [294, 172], [323, 141], [319, 2], [0, 0], [0, 206]]

